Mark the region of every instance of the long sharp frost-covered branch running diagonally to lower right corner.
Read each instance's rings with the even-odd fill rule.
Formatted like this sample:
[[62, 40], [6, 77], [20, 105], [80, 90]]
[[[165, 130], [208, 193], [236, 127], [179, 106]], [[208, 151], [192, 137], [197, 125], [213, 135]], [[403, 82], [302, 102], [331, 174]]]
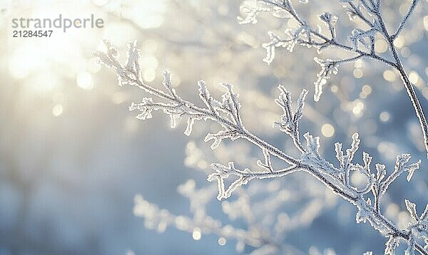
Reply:
[[[223, 129], [216, 134], [208, 134], [205, 137], [205, 141], [207, 142], [213, 140], [213, 144], [211, 145], [213, 150], [220, 145], [222, 140], [236, 140], [238, 138], [248, 140], [248, 142], [253, 143], [253, 145], [262, 150], [264, 163], [261, 160], [258, 161], [258, 166], [263, 169], [262, 171], [238, 170], [235, 168], [233, 162], [229, 162], [228, 165], [217, 163], [212, 165], [215, 172], [208, 176], [208, 181], [218, 182], [219, 200], [227, 199], [236, 188], [247, 184], [252, 179], [283, 177], [297, 171], [307, 172], [320, 180], [332, 192], [354, 204], [357, 207], [357, 222], [369, 222], [374, 229], [384, 236], [389, 237], [385, 254], [394, 254], [392, 251], [396, 248], [399, 240], [404, 240], [408, 244], [409, 251], [416, 250], [420, 254], [428, 255], [428, 251], [421, 244], [417, 243], [420, 236], [428, 243], [428, 205], [421, 214], [421, 217], [419, 217], [416, 212], [416, 205], [406, 200], [407, 209], [414, 221], [417, 222], [417, 224], [409, 224], [407, 229], [399, 229], [382, 214], [379, 208], [379, 200], [387, 191], [389, 185], [404, 172], [407, 172], [407, 181], [410, 181], [414, 171], [419, 169], [420, 160], [410, 164], [409, 154], [397, 156], [394, 171], [385, 178], [385, 166], [376, 164], [376, 173], [372, 172], [370, 167], [372, 157], [366, 152], [363, 152], [364, 166], [352, 162], [360, 145], [358, 134], [354, 134], [352, 135], [352, 145], [345, 152], [342, 151], [342, 144], [335, 144], [336, 157], [340, 163], [340, 166], [335, 167], [331, 162], [327, 162], [318, 152], [320, 148], [319, 137], [312, 137], [312, 135], [306, 133], [304, 135], [306, 145], [304, 146], [300, 142], [299, 120], [302, 118], [307, 90], [302, 90], [297, 100], [297, 108], [292, 110], [290, 92], [282, 85], [279, 85], [280, 95], [275, 100], [275, 103], [282, 108], [284, 114], [280, 120], [275, 122], [275, 126], [289, 135], [297, 149], [300, 150], [300, 158], [292, 157], [279, 148], [260, 139], [260, 137], [245, 128], [240, 117], [238, 94], [233, 91], [233, 85], [222, 83], [221, 85], [223, 85], [226, 91], [221, 100], [217, 100], [210, 95], [205, 82], [200, 80], [198, 82], [199, 96], [205, 104], [205, 107], [200, 108], [190, 101], [180, 98], [171, 84], [169, 72], [163, 73], [165, 91], [143, 83], [138, 61], [140, 53], [136, 48], [136, 41], [128, 43], [128, 60], [124, 65], [118, 61], [118, 51], [116, 48], [109, 41], [103, 41], [103, 43], [105, 50], [96, 51], [96, 56], [98, 57], [98, 61], [116, 71], [119, 85], [136, 85], [155, 98], [166, 101], [166, 103], [155, 103], [153, 98], [143, 98], [141, 103], [132, 103], [129, 110], [140, 111], [137, 118], [142, 120], [152, 118], [151, 113], [153, 110], [162, 110], [163, 113], [170, 116], [172, 127], [176, 126], [177, 120], [183, 118], [188, 120], [185, 135], [190, 135], [195, 120], [212, 120]], [[272, 166], [271, 156], [277, 157], [288, 166], [280, 170], [275, 170]], [[352, 187], [349, 182], [351, 171], [358, 171], [367, 177], [367, 185], [364, 189]], [[236, 179], [226, 189], [224, 180], [231, 177], [236, 177]]]

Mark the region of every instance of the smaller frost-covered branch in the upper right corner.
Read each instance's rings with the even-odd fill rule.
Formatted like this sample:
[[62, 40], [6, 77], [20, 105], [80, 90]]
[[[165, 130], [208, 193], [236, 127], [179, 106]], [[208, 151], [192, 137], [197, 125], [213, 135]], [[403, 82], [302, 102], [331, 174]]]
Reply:
[[[343, 63], [356, 61], [359, 58], [372, 58], [374, 60], [386, 63], [388, 66], [396, 69], [402, 78], [404, 88], [407, 90], [407, 94], [409, 95], [410, 101], [412, 102], [414, 111], [419, 120], [419, 125], [421, 126], [422, 135], [424, 138], [425, 152], [427, 153], [428, 158], [427, 119], [424, 116], [424, 112], [417, 98], [417, 94], [414, 91], [412, 83], [409, 81], [409, 77], [407, 76], [404, 66], [402, 65], [402, 61], [399, 59], [397, 49], [394, 46], [394, 40], [397, 38], [397, 36], [399, 36], [399, 33], [402, 32], [402, 29], [404, 28], [407, 21], [409, 21], [409, 18], [416, 8], [419, 0], [412, 1], [407, 14], [405, 14], [402, 18], [397, 31], [392, 35], [388, 33], [384, 24], [384, 19], [382, 18], [381, 0], [339, 0], [340, 4], [342, 4], [347, 10], [350, 19], [361, 19], [365, 22], [365, 24], [367, 24], [367, 26], [370, 27], [368, 30], [357, 28], [352, 31], [352, 34], [348, 37], [349, 41], [352, 43], [352, 46], [347, 46], [345, 43], [337, 41], [335, 28], [335, 24], [337, 23], [337, 16], [334, 16], [333, 14], [325, 12], [319, 16], [322, 23], [327, 26], [328, 31], [330, 32], [329, 35], [325, 35], [321, 33], [319, 29], [311, 28], [308, 25], [308, 22], [305, 21], [305, 19], [302, 19], [299, 14], [297, 14], [292, 1], [290, 0], [255, 0], [255, 2], [260, 6], [247, 6], [245, 4], [241, 6], [241, 11], [247, 15], [245, 18], [238, 18], [241, 24], [257, 22], [257, 16], [261, 12], [278, 10], [282, 10], [289, 14], [290, 19], [295, 19], [295, 21], [297, 21], [299, 24], [299, 27], [294, 31], [290, 28], [285, 30], [285, 36], [287, 36], [287, 38], [280, 38], [280, 36], [277, 36], [275, 33], [269, 32], [270, 42], [263, 44], [263, 47], [267, 50], [267, 56], [264, 59], [265, 62], [271, 63], [273, 61], [275, 58], [276, 47], [284, 47], [291, 52], [297, 44], [317, 48], [318, 53], [320, 53], [325, 48], [334, 47], [344, 51], [349, 51], [353, 54], [357, 54], [357, 56], [343, 58], [340, 60], [322, 60], [320, 58], [315, 58], [315, 61], [319, 63], [322, 68], [320, 73], [317, 74], [317, 81], [315, 81], [314, 99], [316, 101], [320, 99], [320, 95], [322, 94], [322, 86], [327, 83], [327, 80], [332, 74], [337, 73], [338, 66]], [[370, 19], [372, 19], [372, 21], [370, 21]], [[379, 56], [374, 51], [376, 33], [381, 34], [387, 41], [389, 50], [392, 53], [393, 61]]]

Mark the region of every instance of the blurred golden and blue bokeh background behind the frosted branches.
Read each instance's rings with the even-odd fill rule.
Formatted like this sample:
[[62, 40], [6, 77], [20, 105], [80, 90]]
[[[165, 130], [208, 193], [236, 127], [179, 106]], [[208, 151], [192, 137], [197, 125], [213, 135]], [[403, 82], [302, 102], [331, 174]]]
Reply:
[[[409, 3], [384, 1], [388, 26], [397, 24]], [[122, 57], [126, 43], [136, 39], [143, 79], [157, 88], [165, 69], [178, 93], [195, 102], [198, 80], [206, 80], [215, 96], [222, 93], [218, 83], [233, 83], [248, 130], [292, 155], [297, 151], [290, 139], [272, 127], [282, 114], [273, 103], [276, 87], [285, 85], [294, 98], [309, 89], [300, 129], [321, 137], [327, 159], [335, 162], [334, 142], [349, 147], [350, 136], [359, 132], [360, 162], [362, 150], [388, 171], [404, 152], [422, 160], [412, 182], [402, 177], [382, 204], [389, 219], [406, 227], [404, 198], [419, 207], [427, 203], [428, 161], [397, 73], [370, 60], [346, 64], [315, 103], [317, 53], [299, 46], [293, 53], [277, 48], [267, 66], [261, 47], [267, 31], [292, 24], [262, 16], [258, 24], [238, 25], [239, 6], [240, 1], [225, 0], [0, 1], [6, 9], [0, 16], [0, 254], [233, 254], [267, 247], [245, 241], [243, 231], [270, 236], [274, 241], [266, 244], [284, 246], [272, 250], [283, 254], [383, 252], [386, 240], [368, 224], [355, 223], [355, 207], [309, 175], [253, 181], [218, 202], [216, 184], [206, 182], [209, 164], [233, 160], [237, 167], [254, 168], [261, 152], [241, 140], [211, 151], [202, 141], [213, 123], [197, 123], [186, 137], [185, 123], [171, 130], [161, 113], [137, 120], [128, 105], [147, 95], [118, 87], [113, 71], [93, 58], [101, 38], [118, 46]], [[317, 14], [332, 11], [339, 16], [343, 40], [360, 25], [336, 1], [305, 6], [296, 1], [296, 7], [313, 24]], [[105, 26], [54, 29], [51, 38], [12, 38], [11, 19], [58, 14], [71, 19], [94, 14]], [[422, 1], [396, 40], [426, 114], [427, 14]], [[382, 38], [376, 46], [387, 54]], [[352, 182], [364, 179], [355, 176]], [[142, 197], [134, 210], [136, 194]], [[200, 227], [208, 219], [232, 227], [238, 238]]]

